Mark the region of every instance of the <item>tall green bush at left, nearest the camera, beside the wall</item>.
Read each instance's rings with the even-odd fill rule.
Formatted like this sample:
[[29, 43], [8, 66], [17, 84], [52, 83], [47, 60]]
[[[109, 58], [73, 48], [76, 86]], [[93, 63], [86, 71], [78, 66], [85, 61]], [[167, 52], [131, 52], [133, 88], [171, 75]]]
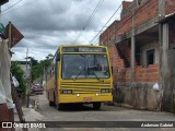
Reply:
[[24, 71], [21, 69], [21, 67], [15, 61], [12, 61], [11, 63], [11, 73], [13, 76], [15, 76], [15, 79], [20, 83], [20, 86], [16, 87], [18, 94], [19, 95], [25, 94], [26, 82], [24, 79]]

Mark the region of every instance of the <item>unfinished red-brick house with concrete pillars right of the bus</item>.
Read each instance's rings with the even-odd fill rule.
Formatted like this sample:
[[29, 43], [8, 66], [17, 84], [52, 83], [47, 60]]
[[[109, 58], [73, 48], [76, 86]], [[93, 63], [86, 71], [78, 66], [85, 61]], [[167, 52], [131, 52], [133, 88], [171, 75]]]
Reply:
[[108, 47], [114, 100], [175, 112], [175, 0], [122, 1], [120, 20], [100, 36]]

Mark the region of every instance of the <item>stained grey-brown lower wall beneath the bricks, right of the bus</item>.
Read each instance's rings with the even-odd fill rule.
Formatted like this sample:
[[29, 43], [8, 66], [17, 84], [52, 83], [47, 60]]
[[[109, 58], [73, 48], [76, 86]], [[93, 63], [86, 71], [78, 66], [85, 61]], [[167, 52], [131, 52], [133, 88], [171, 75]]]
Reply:
[[160, 110], [162, 91], [153, 90], [155, 83], [137, 83], [132, 86], [115, 87], [116, 103], [131, 105], [136, 109]]

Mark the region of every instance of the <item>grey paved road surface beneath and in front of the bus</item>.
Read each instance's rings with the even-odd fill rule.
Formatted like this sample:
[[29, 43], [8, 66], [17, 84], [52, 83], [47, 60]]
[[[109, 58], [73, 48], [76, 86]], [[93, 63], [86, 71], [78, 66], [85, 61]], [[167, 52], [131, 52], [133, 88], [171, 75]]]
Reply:
[[[56, 107], [49, 107], [45, 95], [36, 96], [39, 100], [38, 112], [42, 114], [44, 121], [175, 121], [175, 116], [168, 112], [142, 111], [126, 109], [115, 106], [102, 106], [98, 111], [93, 110], [92, 106], [67, 106], [63, 110], [58, 111]], [[72, 123], [67, 123], [69, 127]], [[78, 123], [74, 123], [79, 126]], [[73, 126], [74, 126], [73, 124]], [[84, 123], [85, 124], [85, 123]], [[95, 123], [107, 124], [107, 122]], [[58, 128], [44, 129], [43, 131], [174, 131], [172, 128]]]

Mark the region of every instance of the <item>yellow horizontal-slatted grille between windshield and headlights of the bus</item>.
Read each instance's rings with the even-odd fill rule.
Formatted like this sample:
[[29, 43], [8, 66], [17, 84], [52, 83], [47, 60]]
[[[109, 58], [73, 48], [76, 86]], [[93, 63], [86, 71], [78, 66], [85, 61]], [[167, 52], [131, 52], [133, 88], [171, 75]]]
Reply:
[[100, 82], [62, 82], [61, 90], [72, 90], [73, 94], [95, 94], [100, 93], [101, 88], [109, 88], [110, 83]]

